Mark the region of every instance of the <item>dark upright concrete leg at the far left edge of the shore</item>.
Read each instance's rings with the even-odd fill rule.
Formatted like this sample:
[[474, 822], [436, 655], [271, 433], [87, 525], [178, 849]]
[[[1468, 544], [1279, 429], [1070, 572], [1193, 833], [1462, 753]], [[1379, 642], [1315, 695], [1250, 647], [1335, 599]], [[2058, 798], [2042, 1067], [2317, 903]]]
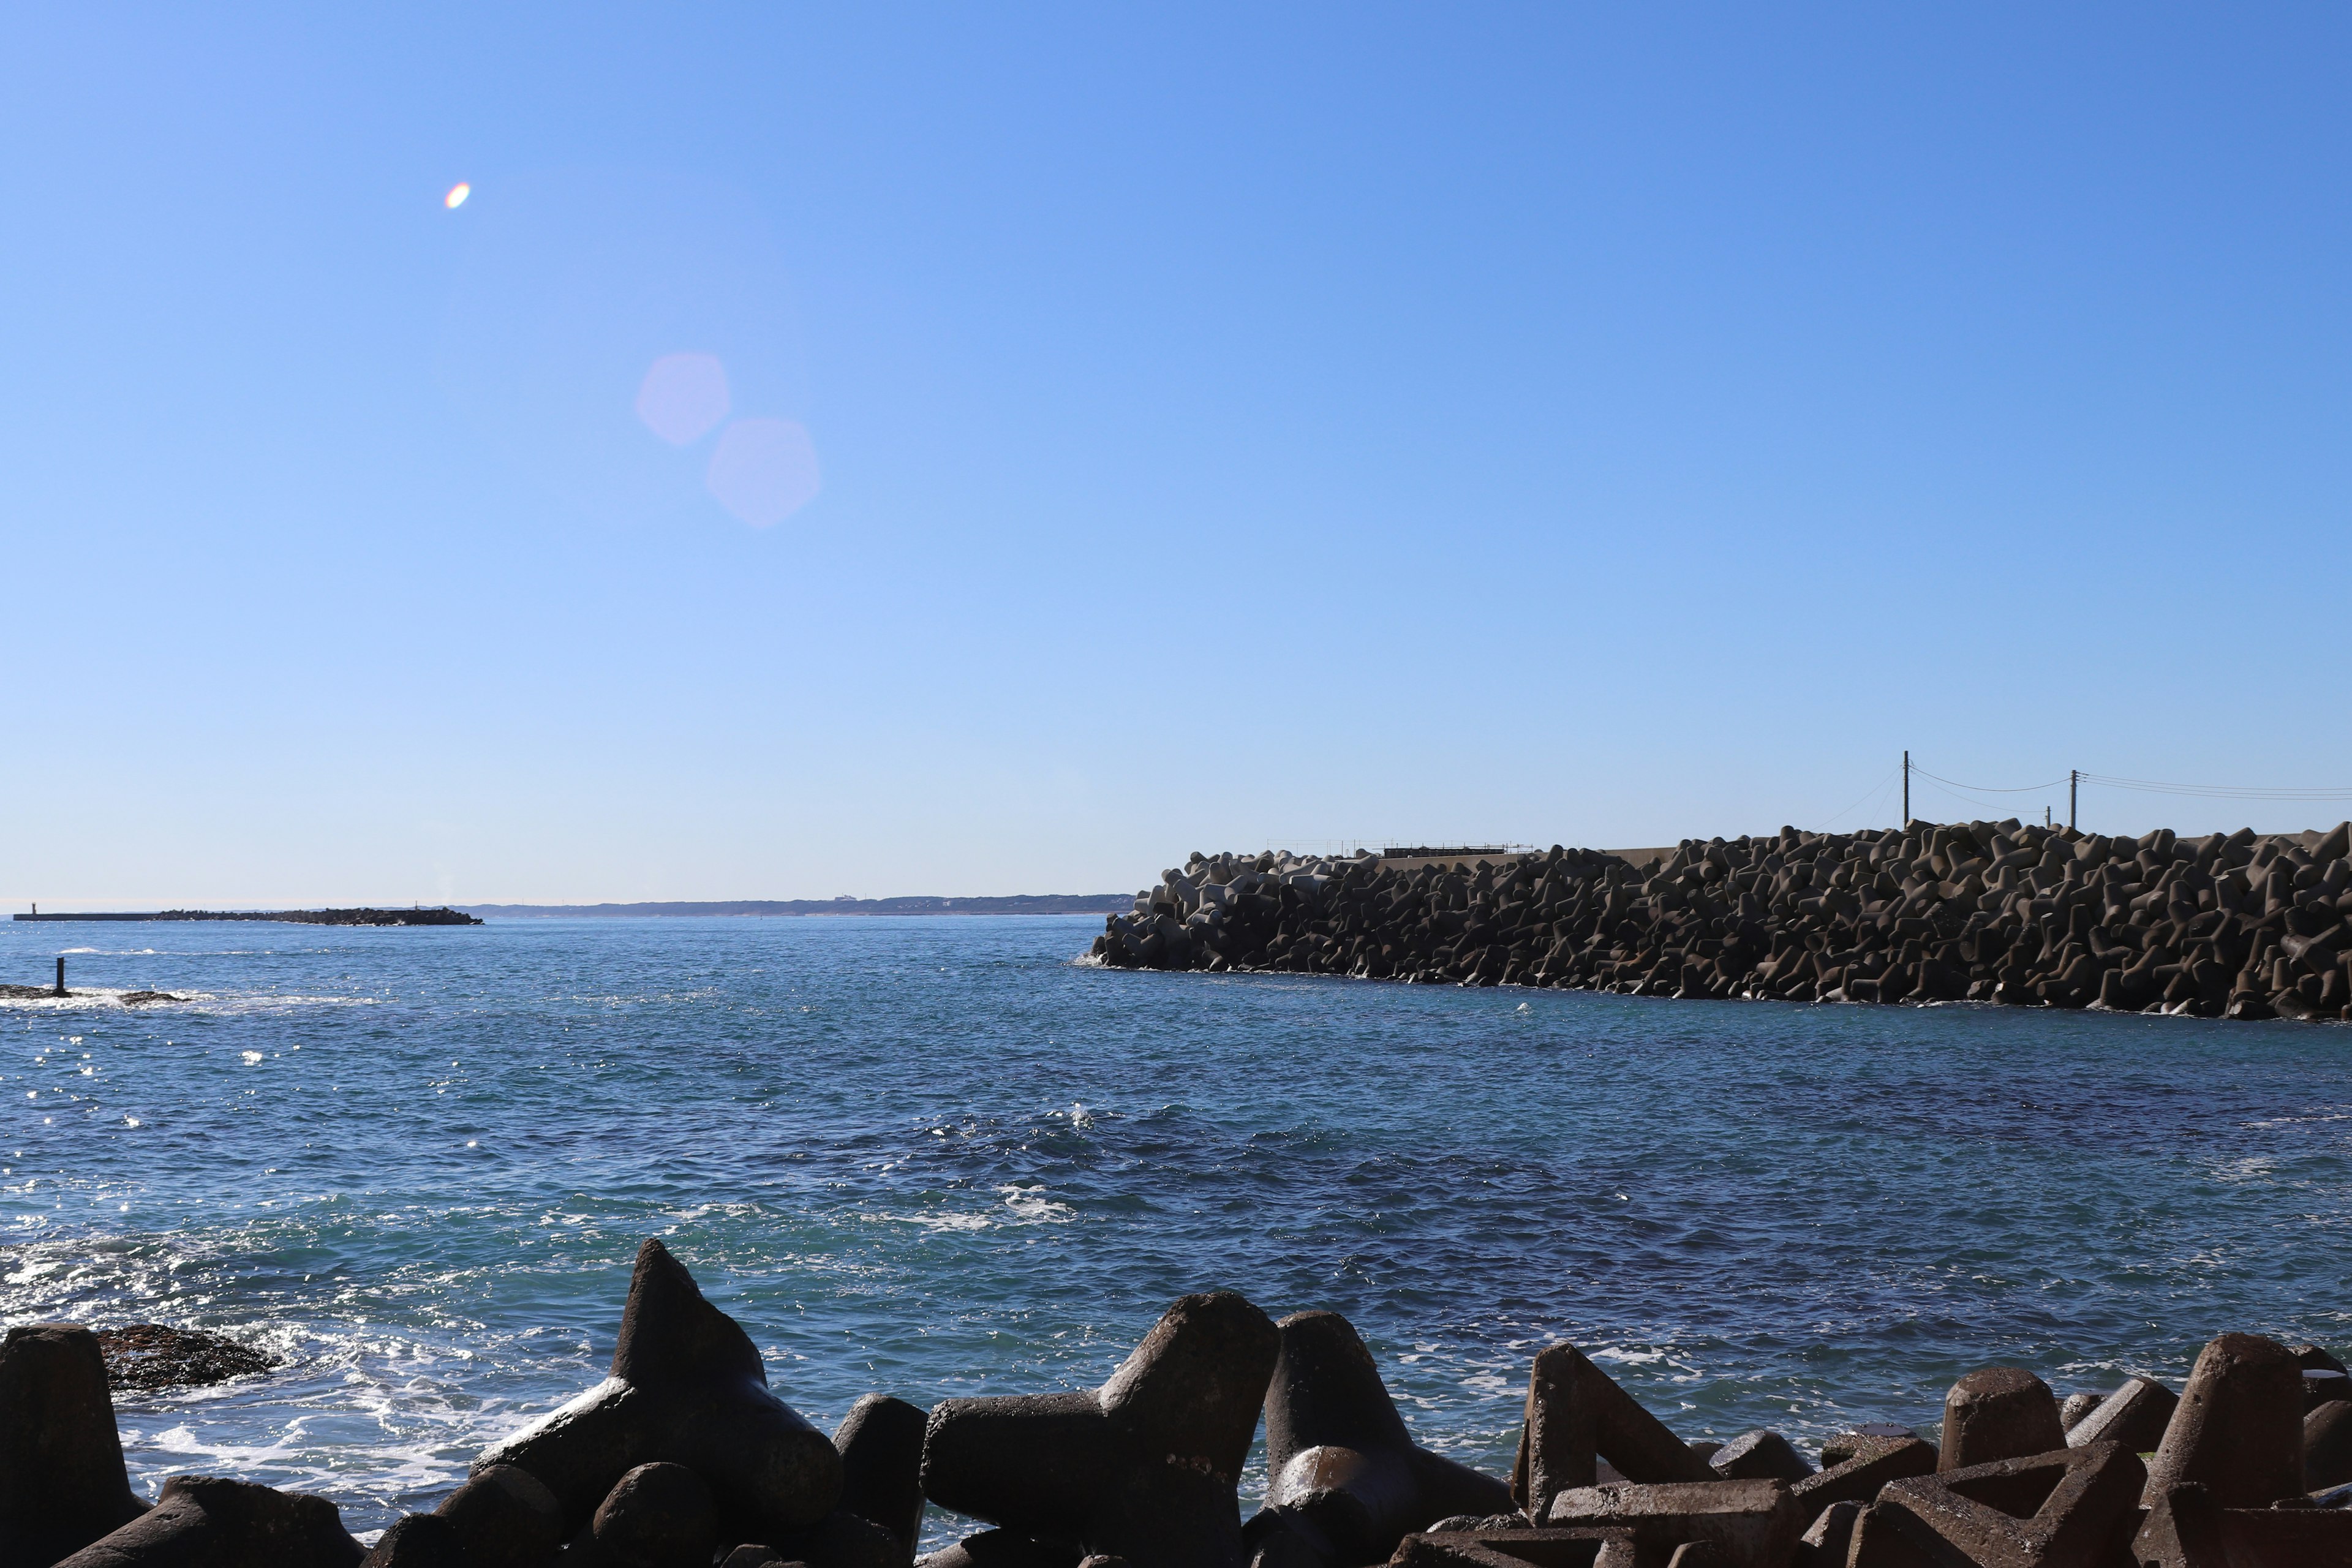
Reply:
[[0, 1340], [0, 1568], [49, 1568], [146, 1512], [122, 1467], [106, 1356], [78, 1324]]

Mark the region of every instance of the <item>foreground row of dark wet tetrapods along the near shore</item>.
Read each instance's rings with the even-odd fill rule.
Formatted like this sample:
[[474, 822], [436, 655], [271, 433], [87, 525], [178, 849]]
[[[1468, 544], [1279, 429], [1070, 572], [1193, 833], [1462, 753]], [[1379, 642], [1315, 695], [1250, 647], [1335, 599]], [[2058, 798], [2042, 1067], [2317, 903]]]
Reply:
[[1769, 1429], [1686, 1441], [1562, 1342], [1529, 1366], [1503, 1479], [1414, 1441], [1341, 1314], [1277, 1324], [1211, 1291], [1101, 1387], [929, 1410], [868, 1394], [828, 1439], [644, 1241], [609, 1378], [374, 1547], [334, 1500], [235, 1476], [139, 1497], [99, 1335], [12, 1328], [0, 1566], [915, 1568], [941, 1507], [990, 1528], [920, 1568], [2326, 1568], [2352, 1561], [2345, 1387], [2317, 1345], [2225, 1333], [2180, 1394], [2129, 1378], [2060, 1403], [1987, 1366], [1933, 1439], [1863, 1425], [1806, 1455]]

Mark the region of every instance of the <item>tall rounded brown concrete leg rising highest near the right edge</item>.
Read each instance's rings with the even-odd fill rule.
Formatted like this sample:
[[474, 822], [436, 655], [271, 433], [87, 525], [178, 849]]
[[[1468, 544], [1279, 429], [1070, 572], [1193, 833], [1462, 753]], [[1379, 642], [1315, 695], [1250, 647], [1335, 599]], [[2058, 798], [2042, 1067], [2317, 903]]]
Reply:
[[2270, 1507], [2303, 1488], [2303, 1366], [2277, 1340], [2225, 1333], [2197, 1356], [2147, 1465], [2143, 1507], [2204, 1486], [2216, 1507]]

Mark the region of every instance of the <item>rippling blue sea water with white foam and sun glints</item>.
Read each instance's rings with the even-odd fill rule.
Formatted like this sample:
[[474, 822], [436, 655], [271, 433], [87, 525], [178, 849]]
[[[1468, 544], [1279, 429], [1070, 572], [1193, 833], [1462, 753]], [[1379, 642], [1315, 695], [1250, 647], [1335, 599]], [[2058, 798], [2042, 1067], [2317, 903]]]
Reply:
[[1345, 1312], [1494, 1472], [1559, 1338], [1684, 1436], [2352, 1340], [2343, 1027], [1117, 973], [1096, 929], [0, 926], [0, 980], [191, 997], [0, 1004], [0, 1319], [285, 1356], [122, 1399], [132, 1469], [360, 1530], [602, 1375], [649, 1234], [828, 1429], [1094, 1385], [1225, 1286]]

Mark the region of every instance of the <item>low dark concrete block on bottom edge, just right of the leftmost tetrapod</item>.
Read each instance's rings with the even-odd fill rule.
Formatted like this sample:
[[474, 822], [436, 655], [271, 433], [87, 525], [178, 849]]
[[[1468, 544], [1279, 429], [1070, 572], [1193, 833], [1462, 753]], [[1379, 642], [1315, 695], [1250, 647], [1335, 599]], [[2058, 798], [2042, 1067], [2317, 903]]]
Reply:
[[365, 1556], [325, 1497], [172, 1476], [153, 1509], [59, 1568], [355, 1568]]

